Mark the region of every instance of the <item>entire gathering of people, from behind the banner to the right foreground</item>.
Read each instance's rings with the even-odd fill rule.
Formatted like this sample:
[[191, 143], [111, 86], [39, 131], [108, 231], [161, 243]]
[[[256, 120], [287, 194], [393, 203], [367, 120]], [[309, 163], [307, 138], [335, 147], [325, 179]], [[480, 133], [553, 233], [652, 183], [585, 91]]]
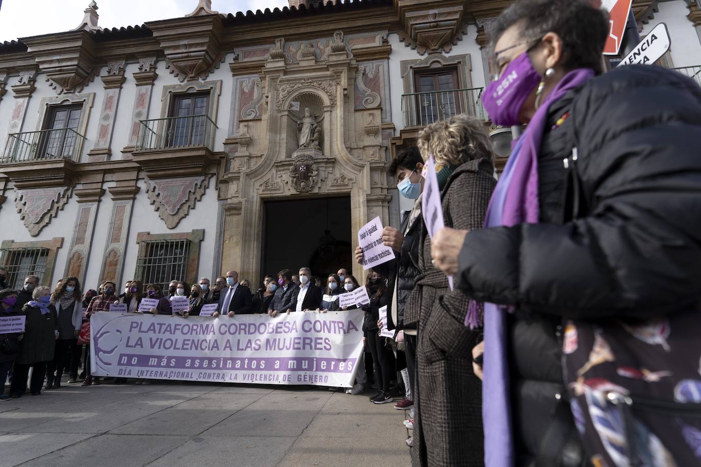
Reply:
[[[369, 271], [362, 306], [372, 364], [346, 392], [372, 374], [381, 404], [404, 386], [395, 407], [411, 409], [415, 466], [701, 463], [701, 88], [650, 65], [604, 73], [600, 4], [518, 0], [491, 25], [484, 108], [526, 125], [498, 181], [489, 135], [466, 115], [429, 125], [390, 164], [414, 207], [383, 229], [395, 259]], [[421, 214], [431, 155], [445, 225], [433, 238]], [[74, 277], [52, 293], [30, 276], [0, 292], [0, 315], [27, 316], [3, 343], [0, 379], [14, 362], [12, 397], [32, 366], [32, 394], [45, 375], [47, 388], [64, 370], [76, 379], [76, 336], [113, 302], [138, 312], [157, 298], [149, 312], [170, 314], [169, 295], [185, 295], [183, 316], [212, 302], [276, 316], [339, 311], [337, 295], [360, 285], [303, 267], [255, 292], [229, 271], [167, 293], [128, 281], [121, 295], [111, 282], [82, 295]], [[379, 333], [384, 306], [393, 337]], [[85, 368], [83, 384], [98, 384]]]

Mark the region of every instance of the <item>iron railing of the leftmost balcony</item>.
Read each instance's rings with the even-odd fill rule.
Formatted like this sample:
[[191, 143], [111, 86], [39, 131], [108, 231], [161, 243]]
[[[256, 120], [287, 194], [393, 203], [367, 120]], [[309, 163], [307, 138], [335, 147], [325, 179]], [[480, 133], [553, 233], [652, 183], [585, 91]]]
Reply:
[[69, 159], [80, 162], [85, 137], [72, 128], [8, 134], [0, 163]]

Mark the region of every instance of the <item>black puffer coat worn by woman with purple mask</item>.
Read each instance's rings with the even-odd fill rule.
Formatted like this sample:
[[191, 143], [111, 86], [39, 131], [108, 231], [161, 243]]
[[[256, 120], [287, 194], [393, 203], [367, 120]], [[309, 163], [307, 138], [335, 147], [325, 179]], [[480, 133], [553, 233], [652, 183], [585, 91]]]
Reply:
[[615, 69], [550, 107], [541, 222], [467, 235], [458, 286], [517, 305], [508, 336], [519, 463], [539, 452], [564, 393], [563, 318], [649, 319], [699, 303], [699, 134], [698, 85], [658, 67]]

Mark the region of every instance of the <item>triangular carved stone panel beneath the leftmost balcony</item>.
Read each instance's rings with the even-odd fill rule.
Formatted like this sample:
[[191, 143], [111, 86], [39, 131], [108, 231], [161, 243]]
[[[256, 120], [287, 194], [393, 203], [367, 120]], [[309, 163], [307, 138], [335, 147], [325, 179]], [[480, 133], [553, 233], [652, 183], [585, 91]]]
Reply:
[[20, 219], [25, 222], [29, 235], [36, 237], [56, 217], [68, 202], [72, 187], [52, 186], [47, 188], [15, 188], [15, 207]]

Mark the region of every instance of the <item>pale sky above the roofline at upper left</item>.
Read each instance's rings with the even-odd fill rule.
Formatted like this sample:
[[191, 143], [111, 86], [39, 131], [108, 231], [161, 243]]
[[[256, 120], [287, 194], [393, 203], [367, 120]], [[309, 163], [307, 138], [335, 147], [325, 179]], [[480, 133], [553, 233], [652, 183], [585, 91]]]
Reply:
[[[178, 18], [195, 9], [197, 0], [96, 0], [100, 26], [142, 25], [145, 21]], [[68, 31], [83, 19], [90, 0], [2, 0], [0, 42], [19, 37]], [[219, 13], [287, 6], [287, 0], [212, 0]]]

